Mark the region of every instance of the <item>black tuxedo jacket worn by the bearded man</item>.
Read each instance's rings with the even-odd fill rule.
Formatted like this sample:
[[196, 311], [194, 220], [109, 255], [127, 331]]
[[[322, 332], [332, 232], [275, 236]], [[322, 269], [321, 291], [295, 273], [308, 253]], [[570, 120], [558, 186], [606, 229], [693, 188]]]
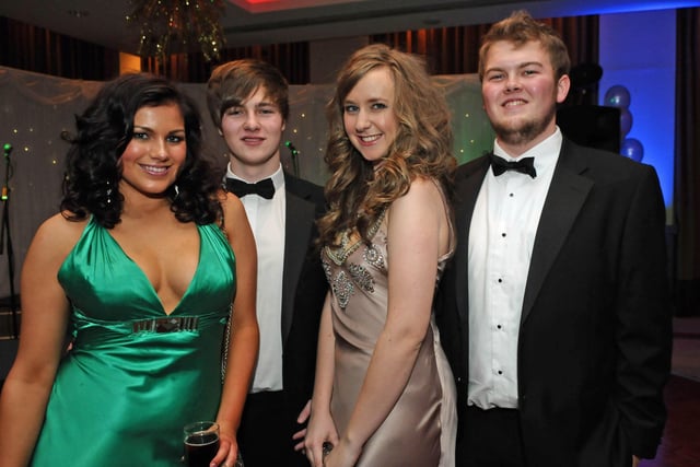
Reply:
[[[469, 224], [488, 157], [460, 166], [458, 246], [436, 318], [455, 375], [459, 425], [468, 382]], [[527, 276], [518, 407], [528, 466], [608, 467], [653, 457], [666, 412], [672, 314], [665, 209], [655, 171], [564, 139]]]

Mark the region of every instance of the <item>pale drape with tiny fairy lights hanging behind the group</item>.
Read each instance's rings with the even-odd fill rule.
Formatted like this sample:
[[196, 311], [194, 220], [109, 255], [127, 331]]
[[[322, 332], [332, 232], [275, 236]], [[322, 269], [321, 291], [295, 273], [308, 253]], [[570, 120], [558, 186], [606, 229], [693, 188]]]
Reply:
[[[481, 106], [478, 78], [474, 74], [435, 77], [444, 86], [453, 110], [455, 156], [459, 162], [474, 159], [493, 144], [493, 132]], [[67, 80], [0, 67], [0, 144], [10, 143], [10, 157], [3, 157], [0, 183], [4, 186], [9, 164], [9, 197], [0, 201], [7, 210], [14, 252], [14, 291], [20, 293], [20, 271], [38, 225], [58, 211], [68, 143], [62, 131], [74, 130], [74, 116], [83, 112], [102, 82]], [[184, 84], [199, 103], [205, 122], [207, 150], [218, 164], [226, 162], [226, 151], [206, 108], [206, 85]], [[296, 166], [302, 178], [323, 185], [327, 172], [323, 161], [327, 124], [325, 105], [332, 93], [330, 84], [292, 85], [290, 118], [285, 141], [298, 151]], [[291, 151], [281, 148], [282, 162], [291, 172], [295, 165]], [[0, 254], [0, 299], [10, 294], [9, 258]]]

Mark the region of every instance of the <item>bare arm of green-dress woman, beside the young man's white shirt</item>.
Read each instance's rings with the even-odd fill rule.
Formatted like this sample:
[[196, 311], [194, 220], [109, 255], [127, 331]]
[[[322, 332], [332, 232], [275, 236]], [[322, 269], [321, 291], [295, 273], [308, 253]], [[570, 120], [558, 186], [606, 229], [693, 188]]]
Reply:
[[[224, 451], [226, 447], [231, 450], [225, 451], [225, 459], [229, 465], [234, 465], [238, 451], [236, 431], [258, 352], [259, 334], [255, 311], [257, 252], [248, 219], [238, 198], [228, 195], [223, 208], [224, 227], [236, 257], [236, 295], [229, 337], [226, 376], [217, 421], [221, 427], [221, 447]], [[224, 460], [221, 452], [214, 460]]]

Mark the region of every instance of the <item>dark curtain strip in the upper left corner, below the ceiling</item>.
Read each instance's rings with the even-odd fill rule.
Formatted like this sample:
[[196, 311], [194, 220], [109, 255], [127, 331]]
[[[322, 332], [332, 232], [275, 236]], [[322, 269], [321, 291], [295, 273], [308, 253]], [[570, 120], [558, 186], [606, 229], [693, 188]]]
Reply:
[[0, 65], [55, 77], [105, 81], [119, 75], [119, 52], [2, 16]]

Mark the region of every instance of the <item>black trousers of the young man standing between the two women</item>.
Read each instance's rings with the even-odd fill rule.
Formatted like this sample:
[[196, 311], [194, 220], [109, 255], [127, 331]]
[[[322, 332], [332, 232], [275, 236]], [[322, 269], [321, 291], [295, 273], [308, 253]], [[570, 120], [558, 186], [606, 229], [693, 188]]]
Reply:
[[287, 407], [282, 392], [248, 394], [237, 433], [245, 467], [308, 467], [292, 440], [301, 409]]

